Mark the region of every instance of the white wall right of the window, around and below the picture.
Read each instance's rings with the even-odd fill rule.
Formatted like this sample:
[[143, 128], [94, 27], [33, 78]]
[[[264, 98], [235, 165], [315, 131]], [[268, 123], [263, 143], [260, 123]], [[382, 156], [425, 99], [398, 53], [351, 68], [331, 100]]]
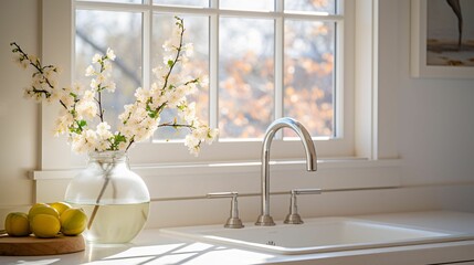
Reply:
[[410, 0], [382, 0], [380, 9], [379, 121], [397, 131], [403, 183], [473, 182], [474, 76], [412, 78]]

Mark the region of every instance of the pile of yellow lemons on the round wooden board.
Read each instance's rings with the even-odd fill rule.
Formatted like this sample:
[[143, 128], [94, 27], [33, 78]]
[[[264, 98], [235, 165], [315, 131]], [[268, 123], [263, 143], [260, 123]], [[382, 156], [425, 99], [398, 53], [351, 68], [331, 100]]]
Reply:
[[36, 203], [27, 213], [11, 212], [4, 220], [4, 229], [10, 236], [28, 236], [31, 233], [40, 239], [64, 235], [78, 235], [87, 225], [87, 216], [82, 209], [72, 208], [65, 202]]

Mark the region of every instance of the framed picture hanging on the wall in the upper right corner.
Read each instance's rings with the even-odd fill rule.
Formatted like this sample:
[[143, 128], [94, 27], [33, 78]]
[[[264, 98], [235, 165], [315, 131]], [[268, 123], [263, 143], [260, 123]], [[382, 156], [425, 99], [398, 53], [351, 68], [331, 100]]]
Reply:
[[411, 75], [474, 78], [474, 1], [411, 1]]

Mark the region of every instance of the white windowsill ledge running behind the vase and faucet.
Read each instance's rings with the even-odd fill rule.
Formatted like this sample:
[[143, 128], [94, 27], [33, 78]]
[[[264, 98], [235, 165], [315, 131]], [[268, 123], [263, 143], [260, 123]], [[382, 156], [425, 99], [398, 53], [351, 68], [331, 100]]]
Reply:
[[[400, 187], [400, 159], [322, 159], [318, 170], [307, 172], [303, 160], [271, 162], [271, 191], [295, 188], [364, 190]], [[256, 194], [261, 189], [261, 162], [180, 163], [131, 166], [147, 183], [152, 200], [204, 198], [209, 192], [238, 191]], [[80, 169], [34, 171], [36, 193], [41, 183], [61, 182], [65, 188]], [[64, 189], [63, 188], [63, 189]], [[61, 190], [61, 189], [60, 189]], [[59, 191], [61, 195], [63, 191]], [[41, 195], [41, 194], [39, 194]]]

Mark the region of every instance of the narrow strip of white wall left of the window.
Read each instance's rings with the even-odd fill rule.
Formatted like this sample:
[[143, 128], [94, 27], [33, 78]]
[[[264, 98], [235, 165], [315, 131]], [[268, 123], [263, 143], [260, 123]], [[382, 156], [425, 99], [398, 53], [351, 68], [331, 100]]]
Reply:
[[28, 171], [36, 168], [39, 159], [39, 106], [23, 99], [30, 75], [13, 63], [10, 42], [39, 53], [39, 2], [0, 2], [0, 209], [33, 202]]

